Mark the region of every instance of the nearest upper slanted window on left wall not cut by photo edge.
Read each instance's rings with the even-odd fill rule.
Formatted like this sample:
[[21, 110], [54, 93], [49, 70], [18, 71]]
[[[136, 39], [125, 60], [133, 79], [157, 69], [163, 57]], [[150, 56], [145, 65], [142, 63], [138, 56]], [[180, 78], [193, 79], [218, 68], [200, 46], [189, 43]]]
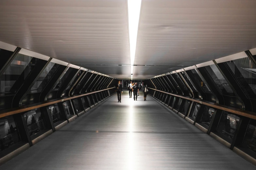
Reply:
[[32, 86], [30, 89], [30, 93], [37, 93], [37, 92], [42, 92], [43, 88], [47, 85], [48, 81], [52, 76], [55, 74], [58, 66], [60, 64], [55, 64], [55, 63], [49, 63], [43, 72], [40, 74], [39, 78], [35, 82], [35, 84]]

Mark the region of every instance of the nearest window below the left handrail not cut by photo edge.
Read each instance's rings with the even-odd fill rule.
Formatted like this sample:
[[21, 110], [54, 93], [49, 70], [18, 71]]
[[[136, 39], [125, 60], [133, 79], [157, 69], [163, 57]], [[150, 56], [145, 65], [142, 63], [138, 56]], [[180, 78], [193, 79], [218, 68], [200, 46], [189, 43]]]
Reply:
[[39, 108], [26, 112], [24, 114], [24, 118], [30, 136], [35, 135], [46, 129], [43, 115]]

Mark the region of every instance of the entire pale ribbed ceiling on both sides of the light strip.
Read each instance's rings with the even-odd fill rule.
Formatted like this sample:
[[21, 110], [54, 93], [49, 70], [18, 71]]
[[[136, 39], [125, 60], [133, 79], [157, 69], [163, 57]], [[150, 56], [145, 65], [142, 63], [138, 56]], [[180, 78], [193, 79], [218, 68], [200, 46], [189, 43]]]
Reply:
[[[133, 78], [256, 48], [255, 8], [256, 0], [142, 0], [134, 64], [150, 66], [134, 66]], [[0, 41], [130, 78], [127, 0], [1, 0], [0, 23]]]

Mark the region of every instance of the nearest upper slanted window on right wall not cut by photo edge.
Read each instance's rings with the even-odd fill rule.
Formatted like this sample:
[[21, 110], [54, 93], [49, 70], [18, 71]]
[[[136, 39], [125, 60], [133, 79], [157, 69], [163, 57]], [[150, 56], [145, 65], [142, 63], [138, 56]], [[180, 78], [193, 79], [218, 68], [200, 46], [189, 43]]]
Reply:
[[217, 87], [220, 89], [222, 94], [235, 96], [230, 85], [228, 84], [226, 79], [222, 76], [222, 74], [220, 73], [216, 65], [214, 64], [208, 65], [205, 68], [207, 72], [210, 74], [210, 76], [213, 78], [213, 81], [216, 83]]

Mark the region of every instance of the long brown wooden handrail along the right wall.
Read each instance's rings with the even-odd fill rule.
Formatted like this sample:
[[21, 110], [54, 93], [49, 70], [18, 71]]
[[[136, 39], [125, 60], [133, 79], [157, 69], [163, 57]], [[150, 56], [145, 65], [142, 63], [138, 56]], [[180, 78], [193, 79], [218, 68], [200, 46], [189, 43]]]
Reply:
[[[152, 89], [152, 88], [149, 88], [149, 89]], [[192, 97], [186, 97], [186, 96], [183, 96], [183, 95], [173, 94], [173, 93], [170, 93], [170, 92], [164, 92], [164, 91], [157, 90], [157, 89], [152, 89], [152, 90], [159, 91], [159, 92], [166, 93], [166, 94], [170, 94], [172, 96], [176, 96], [176, 97], [179, 97], [179, 98], [182, 98], [182, 99], [190, 100], [190, 101], [202, 104], [202, 105], [211, 106], [211, 107], [214, 107], [216, 109], [225, 110], [225, 111], [228, 111], [230, 113], [234, 113], [234, 114], [237, 114], [237, 115], [241, 115], [241, 116], [256, 120], [256, 113], [254, 113], [254, 112], [250, 112], [250, 111], [242, 110], [242, 109], [237, 109], [237, 108], [234, 108], [234, 107], [219, 105], [219, 104], [212, 103], [212, 102], [202, 101], [202, 100], [195, 99], [195, 98], [192, 98]]]

